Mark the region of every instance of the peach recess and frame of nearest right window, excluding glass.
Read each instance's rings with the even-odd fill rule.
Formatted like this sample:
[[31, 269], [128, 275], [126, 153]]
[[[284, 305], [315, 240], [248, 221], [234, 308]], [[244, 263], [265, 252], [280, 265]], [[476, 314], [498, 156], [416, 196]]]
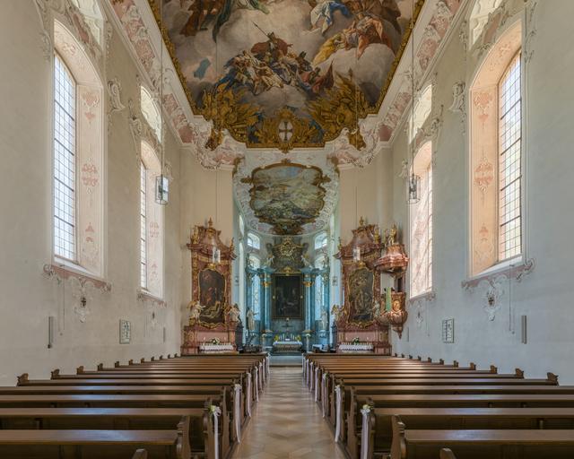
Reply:
[[[467, 84], [468, 109], [467, 158], [467, 281], [481, 280], [493, 273], [523, 266], [526, 263], [527, 220], [527, 155], [528, 132], [525, 123], [528, 112], [524, 55], [524, 17], [510, 17], [495, 36], [488, 51], [475, 63]], [[521, 54], [521, 250], [507, 260], [499, 254], [499, 83], [514, 57]]]

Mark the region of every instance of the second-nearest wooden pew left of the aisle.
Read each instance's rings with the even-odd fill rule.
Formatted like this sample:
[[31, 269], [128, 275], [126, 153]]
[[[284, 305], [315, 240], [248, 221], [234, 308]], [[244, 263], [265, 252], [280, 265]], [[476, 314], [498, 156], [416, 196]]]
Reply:
[[1, 429], [175, 430], [180, 422], [184, 451], [213, 458], [213, 417], [205, 409], [0, 408]]

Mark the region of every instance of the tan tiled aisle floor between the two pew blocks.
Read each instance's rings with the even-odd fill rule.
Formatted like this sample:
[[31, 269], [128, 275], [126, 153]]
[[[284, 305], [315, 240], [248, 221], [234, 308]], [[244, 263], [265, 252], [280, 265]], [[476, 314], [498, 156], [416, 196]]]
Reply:
[[234, 459], [344, 459], [301, 368], [271, 368]]

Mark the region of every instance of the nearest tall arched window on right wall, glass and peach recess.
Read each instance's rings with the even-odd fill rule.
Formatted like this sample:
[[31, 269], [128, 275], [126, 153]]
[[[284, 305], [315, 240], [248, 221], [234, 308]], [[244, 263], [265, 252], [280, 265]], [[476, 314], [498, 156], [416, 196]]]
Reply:
[[521, 22], [495, 40], [471, 86], [471, 274], [522, 255]]

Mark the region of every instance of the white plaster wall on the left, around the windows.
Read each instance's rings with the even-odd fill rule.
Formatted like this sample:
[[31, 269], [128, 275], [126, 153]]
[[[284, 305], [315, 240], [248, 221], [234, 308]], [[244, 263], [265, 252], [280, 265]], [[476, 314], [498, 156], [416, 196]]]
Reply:
[[[173, 169], [165, 209], [164, 299], [167, 307], [137, 299], [139, 286], [139, 164], [127, 123], [127, 109], [113, 116], [105, 160], [106, 281], [109, 293], [87, 290], [90, 314], [74, 314], [80, 295], [73, 281], [42, 274], [51, 262], [51, 65], [43, 56], [34, 2], [4, 2], [0, 14], [0, 385], [16, 375], [49, 377], [84, 365], [113, 365], [179, 350], [181, 250], [179, 247], [179, 152], [168, 134], [166, 154]], [[107, 77], [122, 83], [122, 100], [138, 100], [136, 69], [114, 33]], [[103, 82], [104, 85], [106, 82]], [[108, 96], [106, 94], [106, 100]], [[152, 320], [152, 313], [155, 319]], [[48, 349], [48, 316], [57, 317], [54, 347]], [[132, 323], [130, 344], [119, 344], [119, 319]], [[163, 342], [163, 327], [166, 342]]]

